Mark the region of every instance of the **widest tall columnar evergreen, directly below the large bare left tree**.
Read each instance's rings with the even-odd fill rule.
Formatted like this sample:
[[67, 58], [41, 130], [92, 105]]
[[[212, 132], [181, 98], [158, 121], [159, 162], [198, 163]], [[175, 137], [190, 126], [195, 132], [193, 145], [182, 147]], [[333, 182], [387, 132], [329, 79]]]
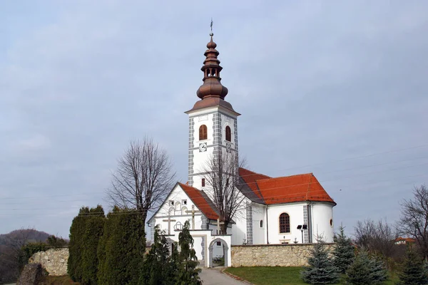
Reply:
[[[107, 234], [106, 234], [107, 233]], [[137, 210], [108, 213], [98, 257], [98, 284], [138, 284], [146, 249], [144, 221]]]

